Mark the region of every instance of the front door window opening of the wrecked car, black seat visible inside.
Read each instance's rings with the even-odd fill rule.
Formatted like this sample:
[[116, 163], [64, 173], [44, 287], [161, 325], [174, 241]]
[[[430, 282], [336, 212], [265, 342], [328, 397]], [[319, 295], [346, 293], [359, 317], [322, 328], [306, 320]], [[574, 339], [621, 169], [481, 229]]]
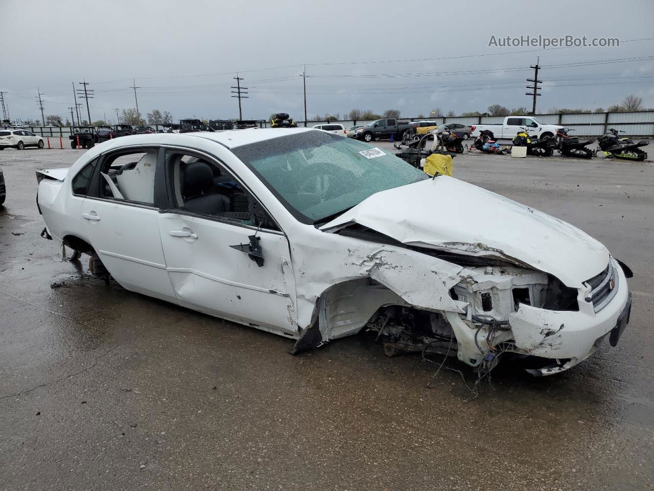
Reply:
[[173, 187], [173, 208], [237, 225], [279, 230], [259, 202], [217, 162], [178, 151], [167, 151], [165, 162]]

